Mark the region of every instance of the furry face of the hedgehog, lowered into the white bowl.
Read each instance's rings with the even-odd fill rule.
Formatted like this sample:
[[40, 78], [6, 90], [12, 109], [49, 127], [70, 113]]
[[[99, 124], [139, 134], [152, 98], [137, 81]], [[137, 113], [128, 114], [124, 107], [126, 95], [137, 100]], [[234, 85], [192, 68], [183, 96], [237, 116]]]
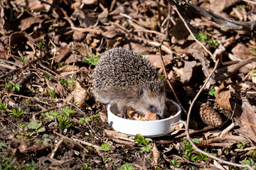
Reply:
[[149, 88], [142, 86], [139, 88], [138, 111], [140, 113], [156, 113], [160, 118], [164, 118], [166, 108], [165, 91], [151, 91]]

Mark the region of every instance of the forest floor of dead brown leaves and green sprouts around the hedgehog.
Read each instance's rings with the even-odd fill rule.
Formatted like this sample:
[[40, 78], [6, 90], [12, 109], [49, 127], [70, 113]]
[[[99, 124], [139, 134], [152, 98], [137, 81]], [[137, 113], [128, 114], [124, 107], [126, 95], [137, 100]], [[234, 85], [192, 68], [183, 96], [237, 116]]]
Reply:
[[[255, 2], [193, 2], [233, 21], [256, 20]], [[182, 13], [200, 45], [163, 0], [3, 0], [0, 16], [1, 169], [255, 169], [255, 32], [225, 33]], [[230, 164], [194, 149], [185, 122], [151, 140], [115, 132], [91, 94], [95, 64], [112, 47], [139, 52], [169, 79], [181, 120], [218, 60], [189, 132]], [[167, 98], [178, 102], [174, 92], [166, 84]]]

